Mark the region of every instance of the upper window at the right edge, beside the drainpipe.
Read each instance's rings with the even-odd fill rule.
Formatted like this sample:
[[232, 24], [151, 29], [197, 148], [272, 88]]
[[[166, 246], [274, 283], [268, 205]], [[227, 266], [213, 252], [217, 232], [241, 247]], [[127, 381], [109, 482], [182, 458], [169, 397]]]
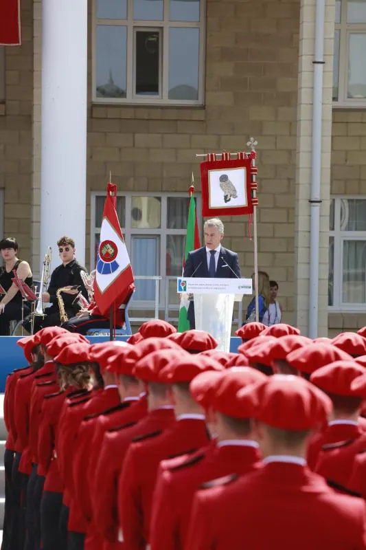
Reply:
[[336, 0], [333, 101], [366, 104], [366, 0]]

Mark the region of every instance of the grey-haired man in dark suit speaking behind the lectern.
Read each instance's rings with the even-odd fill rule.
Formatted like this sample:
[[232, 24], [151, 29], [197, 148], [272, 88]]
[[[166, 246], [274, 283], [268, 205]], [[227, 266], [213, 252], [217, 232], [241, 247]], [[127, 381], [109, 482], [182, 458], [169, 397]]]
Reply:
[[[218, 218], [208, 219], [203, 225], [205, 246], [187, 256], [183, 277], [240, 278], [238, 254], [221, 245], [224, 224]], [[195, 329], [193, 296], [190, 296], [187, 319]]]

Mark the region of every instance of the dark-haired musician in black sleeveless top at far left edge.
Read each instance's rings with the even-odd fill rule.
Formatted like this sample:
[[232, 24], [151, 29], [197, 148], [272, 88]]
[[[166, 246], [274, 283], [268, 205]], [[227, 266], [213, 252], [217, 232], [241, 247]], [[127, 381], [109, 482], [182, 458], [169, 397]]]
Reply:
[[[19, 278], [25, 281], [28, 286], [32, 286], [32, 270], [29, 263], [19, 260], [17, 254], [19, 250], [18, 243], [12, 237], [0, 241], [1, 256], [4, 265], [0, 269], [0, 285], [6, 294], [0, 301], [0, 335], [9, 336], [10, 321], [19, 321], [22, 318], [22, 296], [18, 287], [14, 285], [13, 271], [16, 270]], [[30, 312], [30, 304], [24, 303], [24, 314]]]

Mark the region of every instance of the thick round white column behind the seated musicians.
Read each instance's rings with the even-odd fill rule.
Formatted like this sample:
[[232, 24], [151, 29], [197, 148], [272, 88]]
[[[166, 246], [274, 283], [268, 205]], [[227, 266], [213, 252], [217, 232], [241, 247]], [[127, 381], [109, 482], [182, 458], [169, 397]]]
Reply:
[[41, 261], [66, 234], [85, 261], [87, 0], [42, 1]]

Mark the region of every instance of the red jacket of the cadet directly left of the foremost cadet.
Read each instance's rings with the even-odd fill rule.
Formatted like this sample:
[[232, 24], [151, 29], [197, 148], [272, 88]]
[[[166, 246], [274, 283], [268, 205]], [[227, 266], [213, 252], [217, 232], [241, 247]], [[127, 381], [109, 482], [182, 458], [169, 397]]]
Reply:
[[[243, 441], [244, 443], [244, 441]], [[184, 548], [192, 500], [198, 487], [236, 472], [253, 472], [260, 461], [258, 448], [216, 443], [180, 463], [163, 461], [157, 478], [150, 524], [151, 550]]]

